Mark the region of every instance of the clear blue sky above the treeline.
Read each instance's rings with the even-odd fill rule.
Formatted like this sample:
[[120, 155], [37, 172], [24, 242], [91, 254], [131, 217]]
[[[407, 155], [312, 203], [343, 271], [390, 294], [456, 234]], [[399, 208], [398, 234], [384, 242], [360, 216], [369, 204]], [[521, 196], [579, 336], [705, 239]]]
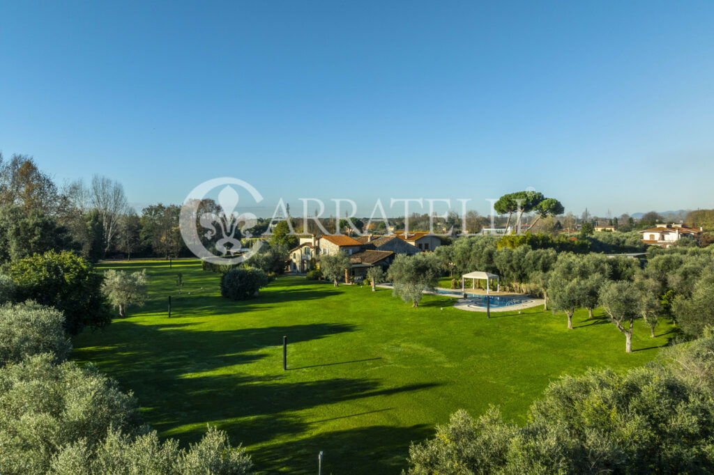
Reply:
[[713, 208], [714, 2], [2, 0], [0, 151], [140, 204]]

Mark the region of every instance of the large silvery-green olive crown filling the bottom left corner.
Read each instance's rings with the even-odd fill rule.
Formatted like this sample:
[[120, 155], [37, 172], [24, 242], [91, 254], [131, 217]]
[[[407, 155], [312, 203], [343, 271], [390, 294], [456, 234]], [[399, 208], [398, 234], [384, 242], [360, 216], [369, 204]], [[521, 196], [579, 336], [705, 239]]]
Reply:
[[39, 354], [0, 369], [1, 474], [44, 474], [66, 444], [140, 429], [136, 399], [94, 367]]

